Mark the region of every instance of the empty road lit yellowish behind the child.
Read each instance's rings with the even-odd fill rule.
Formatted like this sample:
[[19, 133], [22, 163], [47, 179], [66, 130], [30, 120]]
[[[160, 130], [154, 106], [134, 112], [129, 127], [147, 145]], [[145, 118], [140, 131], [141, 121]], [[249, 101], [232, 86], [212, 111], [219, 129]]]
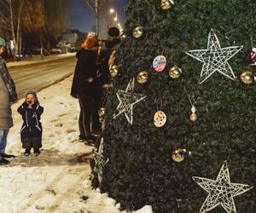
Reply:
[[72, 75], [75, 63], [73, 56], [32, 65], [11, 66], [9, 72], [15, 81], [20, 99], [28, 90], [38, 92]]

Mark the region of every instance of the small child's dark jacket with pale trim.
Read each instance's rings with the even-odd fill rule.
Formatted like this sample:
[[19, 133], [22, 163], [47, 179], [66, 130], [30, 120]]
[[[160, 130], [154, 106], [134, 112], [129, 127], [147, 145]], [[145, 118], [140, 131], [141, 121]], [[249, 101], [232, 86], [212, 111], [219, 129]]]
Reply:
[[22, 115], [23, 124], [20, 129], [21, 139], [37, 137], [42, 138], [42, 124], [40, 123], [41, 114], [44, 112], [44, 107], [41, 107], [38, 102], [28, 107], [24, 102], [18, 108], [18, 112]]

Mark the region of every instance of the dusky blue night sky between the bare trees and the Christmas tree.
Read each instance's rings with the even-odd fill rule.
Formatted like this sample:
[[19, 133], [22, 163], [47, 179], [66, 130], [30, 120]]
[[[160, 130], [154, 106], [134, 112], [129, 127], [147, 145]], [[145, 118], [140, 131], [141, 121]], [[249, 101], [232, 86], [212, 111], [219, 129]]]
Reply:
[[[101, 1], [101, 0], [100, 0]], [[118, 13], [121, 24], [124, 24], [124, 6], [129, 0], [109, 0], [109, 5]], [[90, 32], [95, 28], [95, 14], [84, 0], [69, 0], [69, 29]]]

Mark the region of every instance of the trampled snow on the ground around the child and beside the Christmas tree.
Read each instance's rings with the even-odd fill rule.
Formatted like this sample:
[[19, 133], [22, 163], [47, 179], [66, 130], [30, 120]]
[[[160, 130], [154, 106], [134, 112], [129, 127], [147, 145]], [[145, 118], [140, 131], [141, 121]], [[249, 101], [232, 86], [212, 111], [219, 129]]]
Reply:
[[[94, 147], [77, 141], [78, 101], [69, 95], [72, 77], [38, 93], [44, 107], [43, 148], [38, 157], [24, 157], [20, 143], [21, 117], [12, 106], [15, 126], [7, 153], [17, 157], [0, 166], [1, 213], [119, 213], [119, 204], [90, 187]], [[123, 211], [125, 212], [125, 211]], [[150, 206], [134, 213], [152, 213]]]

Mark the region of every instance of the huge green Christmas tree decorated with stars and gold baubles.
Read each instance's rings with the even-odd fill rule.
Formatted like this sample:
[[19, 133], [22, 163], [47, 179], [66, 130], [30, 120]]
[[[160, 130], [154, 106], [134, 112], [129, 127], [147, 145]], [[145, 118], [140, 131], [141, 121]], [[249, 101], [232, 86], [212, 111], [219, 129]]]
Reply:
[[123, 209], [255, 212], [256, 83], [244, 62], [255, 11], [253, 0], [128, 3], [94, 170]]

